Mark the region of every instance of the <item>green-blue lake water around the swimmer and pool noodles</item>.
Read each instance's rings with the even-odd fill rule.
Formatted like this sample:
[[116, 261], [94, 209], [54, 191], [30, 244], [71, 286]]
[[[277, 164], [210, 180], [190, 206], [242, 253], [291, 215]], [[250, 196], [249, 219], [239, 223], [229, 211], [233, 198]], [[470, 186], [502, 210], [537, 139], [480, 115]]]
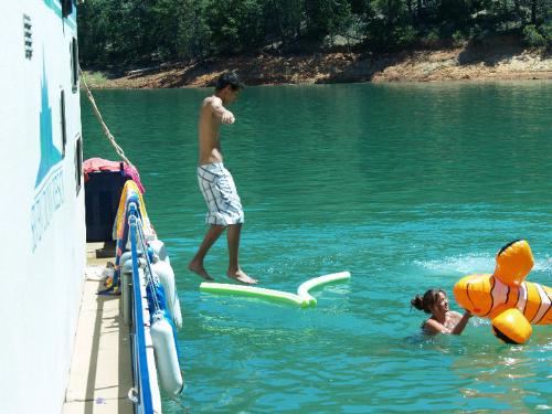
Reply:
[[[187, 270], [203, 234], [199, 105], [211, 89], [98, 91], [140, 170], [178, 276], [191, 413], [552, 411], [552, 327], [507, 346], [487, 319], [426, 337], [410, 300], [452, 295], [529, 241], [528, 279], [552, 286], [552, 83], [247, 87], [222, 128], [245, 210], [241, 264], [261, 286], [314, 290], [316, 308], [215, 296]], [[85, 157], [116, 159], [83, 95]], [[224, 237], [206, 259], [217, 282]], [[450, 298], [452, 308], [458, 309]], [[183, 408], [163, 397], [167, 413]]]

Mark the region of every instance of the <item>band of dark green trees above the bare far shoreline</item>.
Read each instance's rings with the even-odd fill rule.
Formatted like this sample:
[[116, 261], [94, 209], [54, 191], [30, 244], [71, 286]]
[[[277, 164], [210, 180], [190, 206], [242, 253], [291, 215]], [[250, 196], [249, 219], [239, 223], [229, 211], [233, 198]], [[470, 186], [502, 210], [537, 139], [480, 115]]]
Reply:
[[83, 65], [116, 68], [309, 51], [338, 35], [386, 52], [523, 28], [527, 44], [550, 47], [551, 14], [550, 0], [86, 0], [77, 19]]

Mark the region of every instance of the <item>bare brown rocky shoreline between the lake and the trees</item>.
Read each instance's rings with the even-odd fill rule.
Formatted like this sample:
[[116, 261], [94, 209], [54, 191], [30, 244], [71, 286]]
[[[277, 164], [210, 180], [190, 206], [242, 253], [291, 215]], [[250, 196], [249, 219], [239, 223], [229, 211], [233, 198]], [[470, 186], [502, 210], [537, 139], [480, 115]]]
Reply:
[[529, 81], [552, 79], [552, 54], [507, 42], [445, 50], [373, 56], [363, 53], [311, 53], [210, 59], [94, 76], [93, 88], [178, 88], [212, 86], [224, 71], [234, 70], [247, 85], [354, 82]]

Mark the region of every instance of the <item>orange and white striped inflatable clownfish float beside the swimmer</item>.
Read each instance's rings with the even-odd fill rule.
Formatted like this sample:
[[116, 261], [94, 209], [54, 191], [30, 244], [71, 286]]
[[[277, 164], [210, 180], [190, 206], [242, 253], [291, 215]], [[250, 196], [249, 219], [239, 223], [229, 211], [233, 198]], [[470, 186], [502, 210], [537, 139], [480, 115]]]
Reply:
[[469, 275], [454, 287], [459, 306], [489, 318], [492, 332], [508, 343], [523, 343], [531, 325], [552, 323], [552, 289], [526, 282], [533, 267], [533, 255], [524, 240], [503, 246], [496, 257], [492, 275]]

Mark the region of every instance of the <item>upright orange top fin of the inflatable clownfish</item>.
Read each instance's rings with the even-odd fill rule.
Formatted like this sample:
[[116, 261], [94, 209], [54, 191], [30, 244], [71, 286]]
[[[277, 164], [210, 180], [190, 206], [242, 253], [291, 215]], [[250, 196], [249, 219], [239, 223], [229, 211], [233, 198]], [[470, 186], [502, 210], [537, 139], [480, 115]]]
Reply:
[[508, 286], [519, 286], [533, 267], [533, 254], [529, 243], [517, 240], [508, 243], [497, 253], [493, 276]]

